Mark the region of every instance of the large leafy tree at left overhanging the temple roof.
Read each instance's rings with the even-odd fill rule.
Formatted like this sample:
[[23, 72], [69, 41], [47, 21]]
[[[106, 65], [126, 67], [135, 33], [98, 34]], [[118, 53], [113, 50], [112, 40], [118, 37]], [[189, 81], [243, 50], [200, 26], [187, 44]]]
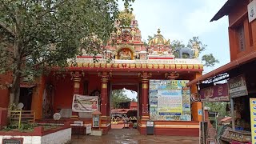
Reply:
[[[106, 44], [114, 30], [117, 1], [0, 0], [0, 24], [10, 32], [1, 33], [0, 41], [0, 72], [12, 73], [6, 85], [10, 104], [18, 103], [21, 78], [41, 75], [46, 67], [67, 66], [78, 48], [99, 53], [99, 43]], [[134, 2], [123, 1], [126, 8]]]

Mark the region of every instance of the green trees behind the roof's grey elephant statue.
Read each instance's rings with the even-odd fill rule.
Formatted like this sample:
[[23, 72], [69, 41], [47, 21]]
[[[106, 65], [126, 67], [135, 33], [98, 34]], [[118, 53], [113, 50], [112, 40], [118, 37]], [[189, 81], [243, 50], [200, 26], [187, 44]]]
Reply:
[[[170, 43], [170, 46], [173, 51], [175, 51], [178, 47], [185, 47], [184, 43], [182, 41], [174, 40]], [[198, 53], [201, 54], [203, 50], [206, 50], [207, 45], [202, 44], [202, 42], [199, 40], [198, 37], [193, 37], [189, 40], [186, 47], [193, 49], [194, 46], [198, 46]], [[178, 54], [174, 52], [174, 55], [177, 57]], [[183, 55], [183, 58], [187, 58], [187, 55]], [[202, 55], [202, 62], [204, 62], [204, 66], [210, 66], [213, 67], [215, 63], [218, 63], [218, 59], [214, 58], [213, 54], [205, 54]]]

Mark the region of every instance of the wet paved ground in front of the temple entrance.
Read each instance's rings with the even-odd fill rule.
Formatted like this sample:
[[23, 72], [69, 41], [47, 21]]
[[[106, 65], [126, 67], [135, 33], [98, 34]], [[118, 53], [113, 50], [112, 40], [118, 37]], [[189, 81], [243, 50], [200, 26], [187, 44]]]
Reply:
[[72, 137], [74, 144], [198, 144], [198, 138], [195, 137], [173, 137], [173, 136], [154, 136], [140, 135], [136, 129], [110, 130], [108, 134], [99, 136], [77, 136]]

